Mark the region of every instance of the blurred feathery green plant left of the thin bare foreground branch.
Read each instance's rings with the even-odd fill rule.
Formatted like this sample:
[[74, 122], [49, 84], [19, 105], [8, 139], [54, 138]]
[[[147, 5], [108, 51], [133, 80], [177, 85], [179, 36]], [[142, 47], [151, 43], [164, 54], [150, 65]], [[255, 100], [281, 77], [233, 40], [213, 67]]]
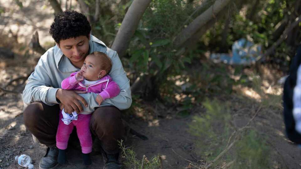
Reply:
[[227, 144], [229, 137], [230, 112], [217, 100], [203, 102], [206, 113], [202, 116], [194, 116], [189, 125], [189, 132], [197, 136], [197, 146], [208, 160], [213, 160]]

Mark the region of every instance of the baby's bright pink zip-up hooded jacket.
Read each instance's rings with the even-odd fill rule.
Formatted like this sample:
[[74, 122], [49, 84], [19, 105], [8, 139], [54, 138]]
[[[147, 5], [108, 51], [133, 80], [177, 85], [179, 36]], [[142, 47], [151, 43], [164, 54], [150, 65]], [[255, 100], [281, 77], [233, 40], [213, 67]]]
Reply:
[[71, 73], [69, 77], [62, 81], [62, 89], [65, 90], [82, 90], [87, 93], [93, 92], [100, 95], [103, 100], [113, 98], [120, 92], [119, 86], [112, 80], [109, 75], [103, 76], [97, 83], [86, 87], [82, 82], [75, 78], [77, 72]]

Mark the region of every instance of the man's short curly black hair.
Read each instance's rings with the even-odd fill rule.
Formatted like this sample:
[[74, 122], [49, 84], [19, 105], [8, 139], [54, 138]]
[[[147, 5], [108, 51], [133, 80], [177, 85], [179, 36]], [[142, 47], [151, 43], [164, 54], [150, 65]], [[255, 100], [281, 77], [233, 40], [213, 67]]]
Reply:
[[55, 42], [59, 44], [60, 40], [76, 38], [82, 35], [89, 38], [90, 31], [91, 26], [85, 15], [74, 10], [66, 10], [55, 16], [49, 33]]

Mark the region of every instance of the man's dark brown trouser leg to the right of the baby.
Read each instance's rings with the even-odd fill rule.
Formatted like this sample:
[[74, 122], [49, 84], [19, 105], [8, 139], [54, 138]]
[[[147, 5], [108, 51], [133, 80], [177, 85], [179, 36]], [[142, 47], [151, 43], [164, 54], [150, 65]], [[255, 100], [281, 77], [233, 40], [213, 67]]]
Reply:
[[107, 154], [119, 152], [118, 140], [124, 136], [124, 125], [121, 112], [114, 106], [97, 108], [91, 116], [90, 128], [101, 141], [101, 146]]

